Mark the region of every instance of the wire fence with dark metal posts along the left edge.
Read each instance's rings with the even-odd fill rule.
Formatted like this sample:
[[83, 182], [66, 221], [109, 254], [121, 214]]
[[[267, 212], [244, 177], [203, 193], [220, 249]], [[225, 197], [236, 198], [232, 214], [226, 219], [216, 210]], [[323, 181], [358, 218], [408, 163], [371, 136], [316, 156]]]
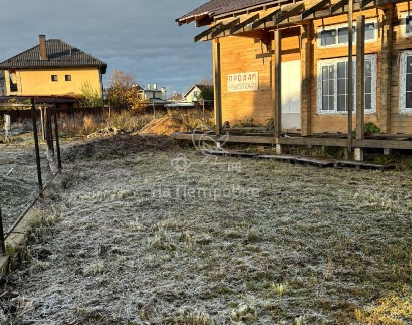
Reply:
[[[0, 153], [0, 190], [3, 194], [0, 201], [0, 253], [4, 254], [5, 241], [15, 232], [24, 215], [36, 203], [48, 183], [61, 171], [62, 162], [55, 102], [52, 105], [41, 104], [38, 110], [34, 98], [31, 99], [31, 104], [0, 103], [0, 108], [2, 106], [21, 107], [30, 112], [33, 125], [33, 144], [30, 145], [33, 145], [32, 150], [10, 146], [7, 152], [2, 150]], [[46, 154], [40, 152], [39, 121], [46, 140]], [[5, 139], [9, 137], [10, 124], [11, 119], [6, 115]]]

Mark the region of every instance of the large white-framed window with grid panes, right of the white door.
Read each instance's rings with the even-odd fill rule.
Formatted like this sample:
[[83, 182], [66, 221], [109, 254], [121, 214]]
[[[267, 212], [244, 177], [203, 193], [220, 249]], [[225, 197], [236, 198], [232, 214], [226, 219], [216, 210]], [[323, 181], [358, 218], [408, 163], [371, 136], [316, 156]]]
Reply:
[[[412, 53], [411, 53], [412, 56]], [[412, 63], [412, 58], [411, 58]], [[356, 99], [356, 60], [354, 59], [354, 108]], [[412, 67], [411, 67], [412, 72]], [[412, 78], [412, 75], [411, 75]], [[412, 91], [412, 79], [411, 79]], [[348, 110], [348, 59], [347, 57], [321, 60], [318, 63], [318, 113], [344, 114]], [[412, 93], [411, 93], [412, 101]], [[411, 102], [412, 103], [412, 102]], [[376, 112], [376, 55], [365, 55], [364, 112]]]

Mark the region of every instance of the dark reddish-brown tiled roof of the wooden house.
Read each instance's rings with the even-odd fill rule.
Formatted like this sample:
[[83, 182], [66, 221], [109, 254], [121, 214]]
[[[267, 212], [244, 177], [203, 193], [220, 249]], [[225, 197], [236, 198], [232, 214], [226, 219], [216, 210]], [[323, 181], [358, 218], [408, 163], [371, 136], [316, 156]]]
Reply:
[[176, 19], [177, 22], [184, 22], [185, 20], [202, 16], [216, 16], [220, 14], [225, 14], [235, 10], [240, 10], [248, 7], [253, 7], [256, 5], [262, 5], [272, 2], [270, 0], [211, 0], [208, 3], [200, 6], [199, 8], [189, 12], [188, 14]]

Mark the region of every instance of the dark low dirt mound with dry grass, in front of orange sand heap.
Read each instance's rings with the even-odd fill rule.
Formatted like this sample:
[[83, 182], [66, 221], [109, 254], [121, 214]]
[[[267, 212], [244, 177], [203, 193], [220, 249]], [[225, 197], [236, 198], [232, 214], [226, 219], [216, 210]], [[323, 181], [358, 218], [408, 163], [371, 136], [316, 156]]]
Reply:
[[115, 135], [91, 139], [62, 151], [62, 161], [110, 160], [124, 158], [135, 152], [160, 151], [171, 147], [170, 138], [139, 135]]

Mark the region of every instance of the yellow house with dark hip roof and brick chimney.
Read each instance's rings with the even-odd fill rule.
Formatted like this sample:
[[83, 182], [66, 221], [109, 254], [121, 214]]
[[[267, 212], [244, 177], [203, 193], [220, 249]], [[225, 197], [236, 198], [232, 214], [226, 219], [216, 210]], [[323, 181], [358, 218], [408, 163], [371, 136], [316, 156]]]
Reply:
[[0, 63], [6, 96], [81, 98], [83, 84], [103, 95], [106, 69], [103, 61], [45, 35], [39, 35], [39, 45]]

